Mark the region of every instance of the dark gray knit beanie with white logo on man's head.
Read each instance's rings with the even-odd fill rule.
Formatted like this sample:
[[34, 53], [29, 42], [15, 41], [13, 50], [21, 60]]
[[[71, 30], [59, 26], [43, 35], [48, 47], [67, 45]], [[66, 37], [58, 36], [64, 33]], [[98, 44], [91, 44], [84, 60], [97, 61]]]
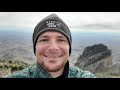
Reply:
[[64, 21], [60, 17], [58, 17], [56, 14], [51, 14], [45, 18], [43, 18], [35, 27], [33, 32], [33, 49], [35, 54], [35, 46], [38, 37], [46, 32], [46, 31], [57, 31], [62, 33], [69, 42], [69, 55], [71, 54], [71, 44], [72, 44], [72, 38], [71, 38], [71, 32], [68, 28], [68, 26], [65, 24]]

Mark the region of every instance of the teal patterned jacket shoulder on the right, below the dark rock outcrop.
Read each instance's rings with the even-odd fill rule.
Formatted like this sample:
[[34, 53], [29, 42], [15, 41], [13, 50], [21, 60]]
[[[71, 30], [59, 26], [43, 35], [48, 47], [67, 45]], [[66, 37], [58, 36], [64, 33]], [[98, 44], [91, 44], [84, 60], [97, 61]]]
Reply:
[[90, 71], [85, 71], [75, 66], [71, 66], [69, 68], [69, 77], [70, 78], [96, 78], [96, 76]]

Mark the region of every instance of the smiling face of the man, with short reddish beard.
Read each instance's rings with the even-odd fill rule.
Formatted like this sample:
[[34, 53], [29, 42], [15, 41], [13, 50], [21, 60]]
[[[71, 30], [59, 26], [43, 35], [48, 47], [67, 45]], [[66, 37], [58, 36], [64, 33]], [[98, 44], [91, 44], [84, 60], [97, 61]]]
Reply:
[[48, 72], [63, 69], [69, 57], [67, 38], [55, 31], [41, 34], [36, 43], [36, 57], [40, 65]]

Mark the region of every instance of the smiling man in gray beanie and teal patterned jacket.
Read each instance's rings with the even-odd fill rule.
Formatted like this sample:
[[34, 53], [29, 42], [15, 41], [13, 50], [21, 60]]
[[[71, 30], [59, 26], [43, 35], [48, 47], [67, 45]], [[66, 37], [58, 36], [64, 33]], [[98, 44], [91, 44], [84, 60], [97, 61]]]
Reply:
[[95, 78], [89, 71], [69, 66], [71, 32], [56, 14], [41, 20], [33, 32], [33, 49], [37, 63], [14, 72], [11, 78]]

